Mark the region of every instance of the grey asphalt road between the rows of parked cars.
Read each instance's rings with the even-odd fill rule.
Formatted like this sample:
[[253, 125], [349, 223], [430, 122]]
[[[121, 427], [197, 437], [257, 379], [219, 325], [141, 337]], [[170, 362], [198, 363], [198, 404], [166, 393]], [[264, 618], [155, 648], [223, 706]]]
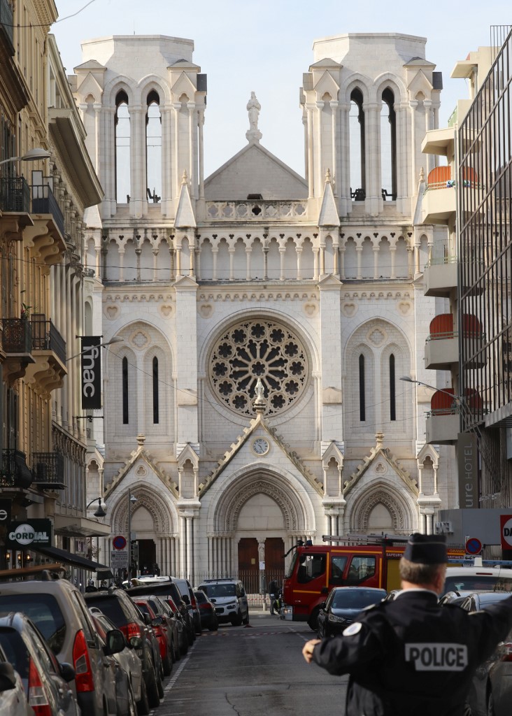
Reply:
[[251, 612], [248, 627], [203, 632], [165, 680], [155, 716], [344, 714], [347, 677], [306, 664], [306, 624]]

